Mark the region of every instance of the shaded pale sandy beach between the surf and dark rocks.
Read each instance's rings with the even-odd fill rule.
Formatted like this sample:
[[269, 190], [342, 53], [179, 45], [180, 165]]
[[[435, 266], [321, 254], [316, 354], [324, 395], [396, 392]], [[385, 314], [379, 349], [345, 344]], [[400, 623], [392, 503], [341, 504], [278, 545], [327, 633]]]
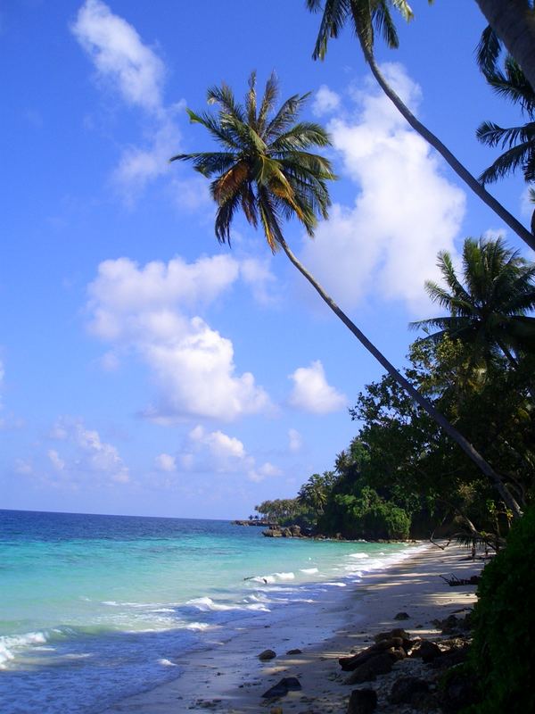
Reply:
[[[440, 577], [478, 574], [481, 560], [474, 562], [468, 556], [466, 548], [455, 544], [445, 551], [427, 544], [398, 565], [366, 574], [352, 588], [333, 587], [320, 602], [284, 608], [268, 626], [247, 623], [226, 641], [218, 641], [214, 633], [210, 650], [190, 652], [173, 662], [182, 669], [180, 677], [129, 697], [105, 714], [179, 714], [187, 710], [342, 714], [355, 686], [343, 684], [345, 673], [338, 658], [369, 646], [375, 634], [400, 624], [412, 636], [438, 635], [433, 620], [471, 608], [475, 601], [475, 586], [450, 587]], [[395, 616], [401, 611], [409, 619], [399, 623]], [[276, 658], [260, 661], [259, 653], [268, 648], [276, 652]], [[294, 649], [301, 652], [286, 654]], [[415, 667], [421, 666], [415, 662]], [[262, 698], [282, 677], [297, 677], [300, 691], [276, 701]], [[370, 685], [382, 692], [395, 677], [396, 667], [391, 675]], [[403, 708], [389, 706], [380, 696], [377, 711], [393, 713]]]

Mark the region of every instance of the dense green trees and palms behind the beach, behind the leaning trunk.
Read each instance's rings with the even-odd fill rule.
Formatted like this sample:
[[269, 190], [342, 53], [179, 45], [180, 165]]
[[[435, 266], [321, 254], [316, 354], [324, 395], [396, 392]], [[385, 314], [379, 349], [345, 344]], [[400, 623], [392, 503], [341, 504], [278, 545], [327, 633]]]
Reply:
[[[535, 362], [531, 340], [515, 340], [511, 326], [519, 314], [531, 325], [523, 312], [534, 300], [533, 266], [502, 241], [466, 241], [464, 284], [446, 263], [451, 292], [442, 289], [441, 304], [455, 319], [426, 321], [440, 332], [410, 345], [405, 375], [525, 507], [535, 496]], [[291, 501], [292, 511], [277, 514], [266, 504], [258, 511], [347, 538], [435, 534], [497, 550], [504, 544], [512, 513], [394, 378], [366, 386], [350, 415], [358, 434], [333, 470], [309, 477]]]

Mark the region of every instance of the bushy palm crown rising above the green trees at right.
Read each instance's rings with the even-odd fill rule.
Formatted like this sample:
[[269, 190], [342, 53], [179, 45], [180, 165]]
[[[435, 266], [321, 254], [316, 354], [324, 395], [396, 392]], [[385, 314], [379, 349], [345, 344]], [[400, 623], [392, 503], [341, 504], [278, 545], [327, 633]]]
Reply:
[[473, 347], [473, 360], [490, 360], [499, 352], [514, 366], [518, 355], [535, 352], [535, 264], [498, 240], [467, 238], [463, 249], [463, 282], [451, 256], [439, 253], [438, 266], [447, 288], [431, 280], [425, 290], [433, 303], [449, 311], [446, 317], [413, 322], [414, 328], [439, 328], [426, 339], [444, 334]]

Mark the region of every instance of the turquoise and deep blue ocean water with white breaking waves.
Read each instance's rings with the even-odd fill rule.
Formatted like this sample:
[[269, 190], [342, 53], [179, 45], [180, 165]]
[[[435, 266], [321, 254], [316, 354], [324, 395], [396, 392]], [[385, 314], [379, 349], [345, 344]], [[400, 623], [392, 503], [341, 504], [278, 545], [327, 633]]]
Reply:
[[228, 521], [0, 511], [0, 711], [96, 714], [174, 660], [412, 551]]

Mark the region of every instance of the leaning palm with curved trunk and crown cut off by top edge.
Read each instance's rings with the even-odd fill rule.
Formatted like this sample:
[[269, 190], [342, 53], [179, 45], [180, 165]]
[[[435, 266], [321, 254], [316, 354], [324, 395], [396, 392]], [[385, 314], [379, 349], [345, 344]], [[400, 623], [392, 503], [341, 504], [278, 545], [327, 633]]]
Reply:
[[407, 0], [307, 0], [307, 7], [310, 12], [319, 12], [323, 5], [323, 16], [320, 23], [316, 46], [312, 54], [314, 59], [324, 59], [327, 51], [327, 44], [331, 37], [338, 37], [346, 22], [350, 22], [360, 42], [365, 60], [369, 65], [374, 78], [383, 89], [385, 95], [389, 97], [399, 113], [407, 120], [408, 124], [432, 145], [436, 151], [449, 163], [449, 166], [457, 173], [465, 184], [473, 190], [473, 193], [481, 201], [486, 203], [514, 232], [535, 250], [535, 237], [529, 230], [524, 228], [519, 220], [509, 213], [506, 208], [499, 203], [494, 196], [481, 186], [481, 183], [473, 177], [469, 170], [458, 161], [457, 157], [449, 151], [449, 148], [442, 144], [439, 137], [416, 119], [416, 116], [403, 103], [399, 95], [392, 89], [380, 71], [374, 57], [374, 31], [378, 30], [383, 34], [387, 45], [391, 48], [399, 46], [398, 35], [391, 18], [391, 7], [398, 10], [405, 20], [413, 17], [413, 12]]

